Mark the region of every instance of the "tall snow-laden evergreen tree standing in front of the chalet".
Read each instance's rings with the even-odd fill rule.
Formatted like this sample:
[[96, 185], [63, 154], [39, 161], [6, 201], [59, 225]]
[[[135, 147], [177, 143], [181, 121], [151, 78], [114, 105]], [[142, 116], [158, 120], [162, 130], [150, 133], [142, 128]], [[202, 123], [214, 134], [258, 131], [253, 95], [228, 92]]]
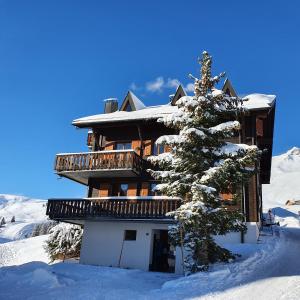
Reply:
[[239, 135], [242, 100], [215, 87], [224, 73], [211, 77], [212, 58], [207, 52], [199, 62], [201, 78], [190, 75], [195, 95], [180, 98], [178, 112], [158, 120], [178, 133], [156, 141], [168, 145], [171, 152], [149, 158], [158, 165], [158, 170], [149, 170], [161, 181], [157, 189], [184, 199], [183, 205], [170, 213], [178, 222], [170, 227], [169, 235], [174, 245], [188, 253], [184, 262], [188, 273], [234, 258], [213, 236], [246, 230], [244, 216], [227, 210], [221, 194], [231, 193], [240, 200], [243, 183], [256, 172], [260, 156], [256, 146], [230, 142]]

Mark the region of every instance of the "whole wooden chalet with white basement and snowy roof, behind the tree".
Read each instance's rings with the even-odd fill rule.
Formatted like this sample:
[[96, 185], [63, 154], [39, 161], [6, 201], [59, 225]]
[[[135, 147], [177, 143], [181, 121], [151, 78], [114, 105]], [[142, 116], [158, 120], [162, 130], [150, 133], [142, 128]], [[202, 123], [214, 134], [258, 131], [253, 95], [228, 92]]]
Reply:
[[[228, 80], [223, 91], [236, 96]], [[57, 154], [55, 171], [86, 185], [87, 197], [49, 199], [47, 214], [83, 225], [81, 263], [182, 273], [181, 249], [168, 242], [168, 226], [175, 221], [166, 216], [182, 202], [155, 191], [158, 182], [146, 171], [146, 158], [169, 150], [155, 141], [174, 132], [157, 119], [176, 112], [175, 102], [185, 95], [179, 86], [170, 103], [146, 106], [129, 91], [120, 106], [116, 99], [107, 99], [103, 114], [73, 121], [74, 126], [89, 129], [90, 151]], [[258, 174], [243, 187], [242, 201], [235, 203], [230, 194], [223, 195], [224, 205], [245, 214], [248, 231], [216, 237], [219, 243], [257, 241], [261, 186], [270, 182], [275, 96], [251, 94], [244, 105], [242, 129], [235, 139], [265, 151]]]

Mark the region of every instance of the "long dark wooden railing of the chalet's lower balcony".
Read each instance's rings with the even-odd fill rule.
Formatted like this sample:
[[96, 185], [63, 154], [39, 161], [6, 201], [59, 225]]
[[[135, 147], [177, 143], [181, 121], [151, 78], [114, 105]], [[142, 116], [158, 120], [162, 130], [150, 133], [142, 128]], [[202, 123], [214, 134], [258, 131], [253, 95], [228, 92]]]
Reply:
[[46, 214], [51, 219], [171, 219], [166, 216], [181, 205], [179, 198], [162, 199], [49, 199]]

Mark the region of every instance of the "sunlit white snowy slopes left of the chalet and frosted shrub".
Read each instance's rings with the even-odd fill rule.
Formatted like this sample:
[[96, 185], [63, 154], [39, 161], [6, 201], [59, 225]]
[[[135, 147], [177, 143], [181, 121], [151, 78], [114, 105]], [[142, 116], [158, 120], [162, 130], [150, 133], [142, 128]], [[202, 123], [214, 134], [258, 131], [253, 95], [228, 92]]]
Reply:
[[[49, 261], [44, 249], [48, 236], [26, 238], [31, 236], [36, 224], [47, 220], [45, 212], [45, 200], [0, 194], [0, 218], [6, 220], [0, 227], [0, 267]], [[15, 222], [11, 223], [13, 216]]]

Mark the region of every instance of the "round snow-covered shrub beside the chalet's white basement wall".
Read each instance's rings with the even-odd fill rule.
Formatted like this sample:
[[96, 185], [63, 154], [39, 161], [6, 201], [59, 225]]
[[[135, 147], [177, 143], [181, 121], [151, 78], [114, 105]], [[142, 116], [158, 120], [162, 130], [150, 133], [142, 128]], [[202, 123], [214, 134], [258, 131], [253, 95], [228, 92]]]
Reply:
[[45, 249], [52, 261], [78, 257], [83, 230], [80, 226], [59, 223], [51, 228]]

